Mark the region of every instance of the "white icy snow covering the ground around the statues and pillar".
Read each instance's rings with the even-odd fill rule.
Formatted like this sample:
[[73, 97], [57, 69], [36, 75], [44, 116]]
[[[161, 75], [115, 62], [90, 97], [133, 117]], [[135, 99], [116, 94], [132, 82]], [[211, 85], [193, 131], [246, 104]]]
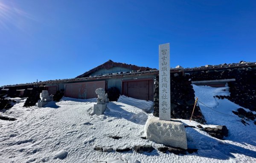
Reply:
[[[228, 94], [227, 90], [206, 86], [193, 86], [201, 102], [212, 108], [235, 116], [231, 111], [240, 106], [227, 99], [218, 100], [214, 95]], [[226, 89], [226, 88], [224, 88]], [[100, 152], [99, 146], [109, 148], [132, 148], [135, 145], [162, 146], [145, 137], [144, 125], [149, 116], [151, 101], [121, 96], [117, 102], [109, 102], [105, 115], [90, 115], [96, 98], [81, 100], [64, 97], [60, 102], [50, 102], [44, 108], [22, 107], [26, 99], [17, 99], [5, 116], [16, 121], [0, 120], [0, 162], [47, 162], [47, 163], [253, 163], [256, 162], [256, 125], [239, 118], [222, 115], [207, 109], [200, 103], [207, 124], [226, 125], [229, 136], [218, 140], [199, 129], [187, 127], [189, 148], [198, 152], [175, 155], [154, 150], [151, 153]], [[199, 123], [181, 120], [184, 125]], [[122, 137], [119, 140], [108, 136]]]

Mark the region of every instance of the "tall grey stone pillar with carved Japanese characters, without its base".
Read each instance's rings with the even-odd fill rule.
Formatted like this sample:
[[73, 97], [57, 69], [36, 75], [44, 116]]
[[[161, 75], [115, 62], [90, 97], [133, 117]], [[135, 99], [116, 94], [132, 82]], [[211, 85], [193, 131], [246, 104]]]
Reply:
[[159, 119], [171, 120], [170, 44], [159, 45]]

